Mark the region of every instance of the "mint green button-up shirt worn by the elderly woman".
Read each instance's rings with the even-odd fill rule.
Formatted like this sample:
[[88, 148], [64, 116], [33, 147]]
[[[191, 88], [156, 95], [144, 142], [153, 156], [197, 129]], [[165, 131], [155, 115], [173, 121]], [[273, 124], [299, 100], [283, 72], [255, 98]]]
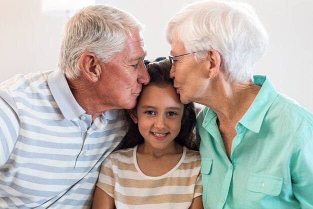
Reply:
[[197, 116], [204, 208], [313, 208], [313, 114], [267, 77], [254, 81], [261, 89], [236, 124], [231, 162], [216, 113]]

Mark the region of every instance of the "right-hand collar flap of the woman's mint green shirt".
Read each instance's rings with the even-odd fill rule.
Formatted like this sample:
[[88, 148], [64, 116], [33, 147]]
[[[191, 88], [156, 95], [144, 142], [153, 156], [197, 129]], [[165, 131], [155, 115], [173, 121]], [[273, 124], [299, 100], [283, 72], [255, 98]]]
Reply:
[[258, 133], [264, 117], [274, 99], [277, 97], [278, 92], [275, 90], [267, 76], [255, 75], [253, 78], [254, 83], [261, 86], [261, 89], [238, 123], [247, 129]]

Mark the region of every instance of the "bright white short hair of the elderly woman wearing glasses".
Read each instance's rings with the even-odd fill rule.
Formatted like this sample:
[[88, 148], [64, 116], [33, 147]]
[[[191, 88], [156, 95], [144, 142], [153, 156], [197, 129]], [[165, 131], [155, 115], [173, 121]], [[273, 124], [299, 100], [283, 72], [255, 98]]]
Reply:
[[[250, 5], [230, 1], [190, 4], [168, 22], [166, 39], [180, 41], [187, 52], [215, 49], [228, 81], [253, 82], [252, 67], [268, 47], [266, 30]], [[196, 61], [205, 53], [194, 53]]]

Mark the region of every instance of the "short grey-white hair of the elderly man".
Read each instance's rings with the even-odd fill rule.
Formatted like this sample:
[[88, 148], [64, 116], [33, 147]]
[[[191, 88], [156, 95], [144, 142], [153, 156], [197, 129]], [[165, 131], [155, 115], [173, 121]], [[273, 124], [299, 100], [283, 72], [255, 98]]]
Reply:
[[68, 79], [75, 79], [81, 73], [79, 58], [84, 52], [92, 52], [102, 62], [110, 62], [124, 49], [131, 32], [142, 29], [133, 16], [114, 7], [83, 8], [63, 29], [57, 66]]

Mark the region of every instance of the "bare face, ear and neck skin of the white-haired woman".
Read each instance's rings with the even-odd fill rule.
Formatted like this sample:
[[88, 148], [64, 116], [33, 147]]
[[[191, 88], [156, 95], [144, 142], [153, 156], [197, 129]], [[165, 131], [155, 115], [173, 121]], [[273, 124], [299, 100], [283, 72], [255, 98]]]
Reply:
[[[182, 103], [196, 102], [210, 107], [217, 114], [220, 135], [230, 158], [231, 142], [236, 136], [235, 125], [252, 104], [260, 87], [251, 82], [229, 82], [223, 67], [219, 66], [219, 53], [214, 49], [208, 52], [206, 59], [199, 63], [190, 55], [177, 59], [170, 76], [174, 78], [174, 87]], [[171, 53], [188, 52], [180, 41], [173, 40]]]

